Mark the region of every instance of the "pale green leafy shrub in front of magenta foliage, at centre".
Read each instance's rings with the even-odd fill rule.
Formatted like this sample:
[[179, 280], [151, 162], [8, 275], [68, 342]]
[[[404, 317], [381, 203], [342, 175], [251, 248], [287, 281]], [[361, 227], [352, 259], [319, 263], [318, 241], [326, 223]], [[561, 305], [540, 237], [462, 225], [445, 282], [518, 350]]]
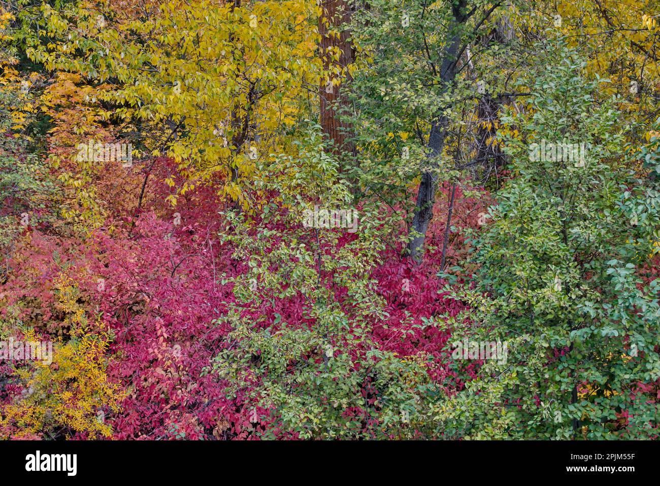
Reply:
[[[258, 171], [287, 177], [255, 181], [262, 190], [277, 188], [288, 214], [282, 216], [275, 202], [265, 206], [260, 226], [269, 229], [258, 237], [244, 215], [227, 215], [224, 239], [250, 270], [232, 279], [236, 302], [216, 321], [232, 327], [232, 346], [218, 355], [213, 370], [236, 393], [255, 384], [250, 398], [277, 417], [279, 433], [304, 439], [405, 437], [413, 431], [402, 414], [414, 417], [421, 409], [430, 379], [420, 363], [382, 351], [371, 336], [374, 322], [385, 318], [369, 275], [386, 230], [373, 222], [379, 221], [378, 208], [367, 207], [358, 213], [356, 238], [344, 244], [339, 241], [347, 238], [345, 229], [301, 226], [310, 208], [300, 198], [302, 187], [325, 208], [346, 208], [352, 200], [347, 183], [333, 182], [337, 161], [320, 144], [318, 127], [304, 140], [298, 156], [278, 156], [269, 170]], [[309, 324], [290, 325], [271, 307], [277, 299]], [[274, 433], [268, 429], [264, 437]]]

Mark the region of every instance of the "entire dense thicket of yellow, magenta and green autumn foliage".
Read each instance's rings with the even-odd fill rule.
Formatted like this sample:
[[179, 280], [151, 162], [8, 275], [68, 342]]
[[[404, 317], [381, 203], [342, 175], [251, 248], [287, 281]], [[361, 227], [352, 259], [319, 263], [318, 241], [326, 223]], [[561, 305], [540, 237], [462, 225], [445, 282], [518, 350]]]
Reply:
[[655, 439], [659, 16], [0, 1], [0, 437]]

